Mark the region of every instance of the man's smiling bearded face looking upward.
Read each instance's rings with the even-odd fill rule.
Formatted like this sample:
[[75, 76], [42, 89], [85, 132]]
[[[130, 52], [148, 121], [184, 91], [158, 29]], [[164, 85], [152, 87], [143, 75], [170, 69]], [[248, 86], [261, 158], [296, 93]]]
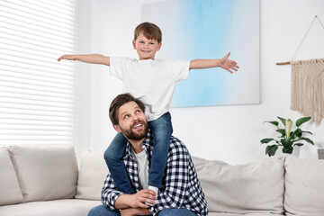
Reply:
[[135, 102], [123, 104], [118, 110], [118, 125], [114, 129], [130, 140], [140, 140], [148, 133], [148, 121], [139, 105]]

